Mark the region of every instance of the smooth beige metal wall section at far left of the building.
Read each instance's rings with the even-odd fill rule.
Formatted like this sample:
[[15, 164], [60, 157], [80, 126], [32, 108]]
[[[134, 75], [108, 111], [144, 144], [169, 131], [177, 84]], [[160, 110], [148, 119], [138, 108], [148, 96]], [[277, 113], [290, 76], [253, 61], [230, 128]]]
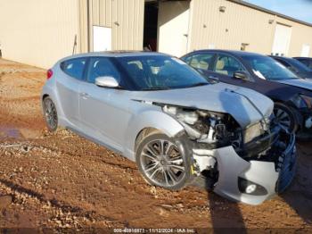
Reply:
[[77, 0], [1, 0], [4, 58], [49, 68], [72, 54], [78, 35]]

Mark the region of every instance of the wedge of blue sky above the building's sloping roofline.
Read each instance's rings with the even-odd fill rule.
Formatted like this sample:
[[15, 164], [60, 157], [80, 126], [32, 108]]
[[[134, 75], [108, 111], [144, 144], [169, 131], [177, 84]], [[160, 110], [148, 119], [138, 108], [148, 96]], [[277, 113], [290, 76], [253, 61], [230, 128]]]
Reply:
[[300, 21], [312, 23], [312, 0], [244, 0]]

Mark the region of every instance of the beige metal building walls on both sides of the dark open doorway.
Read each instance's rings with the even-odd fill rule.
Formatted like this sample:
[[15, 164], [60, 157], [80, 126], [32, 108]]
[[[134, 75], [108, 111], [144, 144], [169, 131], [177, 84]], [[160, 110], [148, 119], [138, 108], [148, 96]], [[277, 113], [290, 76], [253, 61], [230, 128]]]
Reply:
[[[220, 6], [226, 6], [225, 13]], [[309, 45], [312, 56], [312, 27], [226, 0], [191, 1], [188, 51], [209, 46], [239, 50], [247, 43], [248, 51], [270, 54], [276, 23], [291, 26], [288, 55], [300, 55]], [[93, 25], [112, 29], [112, 49], [142, 50], [144, 0], [0, 1], [3, 56], [21, 63], [51, 67], [72, 53], [75, 35], [77, 52], [92, 51]]]

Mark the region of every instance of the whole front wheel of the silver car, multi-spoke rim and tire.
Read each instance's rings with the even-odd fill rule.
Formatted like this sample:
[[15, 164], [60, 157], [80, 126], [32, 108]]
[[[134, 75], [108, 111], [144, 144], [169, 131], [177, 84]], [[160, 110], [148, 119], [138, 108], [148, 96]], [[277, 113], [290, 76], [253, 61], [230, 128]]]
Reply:
[[182, 144], [160, 132], [152, 132], [139, 142], [135, 159], [151, 185], [178, 190], [191, 178], [191, 160]]

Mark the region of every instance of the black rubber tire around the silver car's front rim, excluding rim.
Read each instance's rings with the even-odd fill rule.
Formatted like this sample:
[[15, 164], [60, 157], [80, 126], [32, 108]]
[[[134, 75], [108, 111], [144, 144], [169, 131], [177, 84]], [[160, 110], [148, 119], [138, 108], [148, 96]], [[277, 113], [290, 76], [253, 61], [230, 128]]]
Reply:
[[188, 182], [191, 180], [192, 178], [192, 173], [191, 173], [191, 166], [192, 166], [192, 161], [191, 161], [191, 157], [188, 154], [188, 150], [187, 147], [185, 147], [185, 143], [183, 142], [183, 140], [181, 139], [174, 139], [174, 138], [169, 138], [167, 135], [163, 134], [163, 133], [152, 133], [150, 135], [148, 135], [147, 137], [143, 138], [142, 141], [139, 143], [137, 150], [135, 152], [135, 161], [137, 164], [137, 167], [139, 169], [139, 171], [141, 172], [141, 174], [143, 175], [144, 179], [151, 185], [154, 186], [160, 186], [158, 184], [155, 184], [152, 180], [150, 180], [144, 173], [143, 170], [143, 165], [141, 164], [141, 153], [143, 151], [144, 146], [146, 146], [148, 143], [150, 143], [153, 140], [157, 140], [157, 139], [165, 139], [168, 140], [172, 143], [174, 143], [180, 154], [183, 157], [184, 163], [185, 163], [185, 175], [183, 177], [183, 180], [181, 180], [179, 183], [177, 183], [177, 185], [175, 186], [162, 186], [162, 188], [166, 188], [169, 190], [179, 190], [181, 188], [185, 188], [185, 186], [188, 184]]

